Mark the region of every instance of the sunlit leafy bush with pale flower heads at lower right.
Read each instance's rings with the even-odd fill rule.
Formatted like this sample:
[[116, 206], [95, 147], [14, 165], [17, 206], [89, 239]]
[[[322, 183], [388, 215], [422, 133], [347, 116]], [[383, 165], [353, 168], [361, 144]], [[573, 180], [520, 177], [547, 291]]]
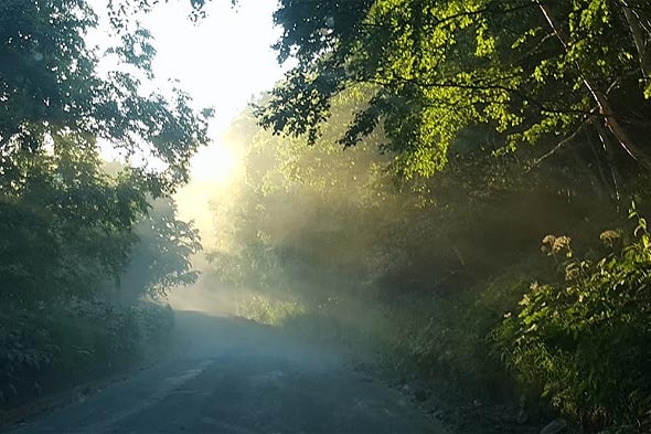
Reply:
[[563, 279], [534, 283], [498, 335], [520, 380], [585, 425], [650, 422], [651, 244], [634, 208], [631, 218], [636, 239], [604, 232], [602, 257], [577, 257], [567, 236], [545, 237]]

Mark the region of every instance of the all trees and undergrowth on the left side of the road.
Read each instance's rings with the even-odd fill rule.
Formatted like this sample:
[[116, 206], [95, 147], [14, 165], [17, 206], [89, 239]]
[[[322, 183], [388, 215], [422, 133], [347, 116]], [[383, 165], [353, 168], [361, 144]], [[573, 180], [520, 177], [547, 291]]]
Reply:
[[153, 356], [173, 324], [161, 296], [196, 278], [170, 194], [210, 112], [142, 91], [153, 49], [126, 15], [100, 73], [96, 24], [85, 1], [0, 6], [0, 409]]

